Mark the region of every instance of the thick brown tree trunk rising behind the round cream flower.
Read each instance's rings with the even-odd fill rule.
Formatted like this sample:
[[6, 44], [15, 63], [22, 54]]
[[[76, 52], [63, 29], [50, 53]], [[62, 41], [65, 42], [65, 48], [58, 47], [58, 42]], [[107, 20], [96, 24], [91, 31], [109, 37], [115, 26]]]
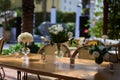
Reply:
[[34, 0], [22, 0], [22, 32], [33, 34]]

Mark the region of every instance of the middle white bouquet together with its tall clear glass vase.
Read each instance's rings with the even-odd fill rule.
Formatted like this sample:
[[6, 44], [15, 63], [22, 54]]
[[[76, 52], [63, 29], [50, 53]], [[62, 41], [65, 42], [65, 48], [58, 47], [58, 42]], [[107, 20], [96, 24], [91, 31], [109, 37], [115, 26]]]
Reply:
[[63, 52], [61, 51], [61, 43], [64, 43], [72, 37], [72, 33], [68, 32], [66, 28], [62, 26], [62, 24], [52, 25], [48, 28], [51, 42], [56, 43], [57, 51], [55, 52], [56, 57], [62, 57]]

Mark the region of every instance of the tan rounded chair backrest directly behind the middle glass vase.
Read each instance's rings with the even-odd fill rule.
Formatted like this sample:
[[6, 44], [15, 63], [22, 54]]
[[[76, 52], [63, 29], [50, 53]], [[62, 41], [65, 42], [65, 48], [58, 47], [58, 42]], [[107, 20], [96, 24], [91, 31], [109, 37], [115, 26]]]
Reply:
[[[63, 51], [65, 57], [70, 57], [70, 50], [65, 44], [61, 45], [61, 50]], [[42, 54], [43, 52], [45, 52], [45, 54], [54, 55], [55, 51], [57, 51], [56, 44], [53, 45], [47, 44], [43, 46], [41, 49], [39, 49], [38, 54]]]

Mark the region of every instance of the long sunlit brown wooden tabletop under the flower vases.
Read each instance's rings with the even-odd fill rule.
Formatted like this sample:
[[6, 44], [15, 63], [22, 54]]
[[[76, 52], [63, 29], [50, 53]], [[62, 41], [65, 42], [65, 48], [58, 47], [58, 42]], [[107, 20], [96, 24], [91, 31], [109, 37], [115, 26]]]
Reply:
[[[61, 59], [62, 63], [55, 64], [54, 56], [50, 55], [46, 55], [44, 63], [38, 54], [29, 54], [29, 63], [25, 63], [22, 56], [15, 58], [15, 55], [1, 55], [0, 66], [66, 80], [95, 80], [96, 74], [98, 74], [98, 70], [96, 70], [98, 66], [92, 60], [75, 59], [74, 67], [70, 67], [70, 60], [65, 57]], [[104, 69], [107, 65], [107, 62], [102, 63], [102, 68]]]

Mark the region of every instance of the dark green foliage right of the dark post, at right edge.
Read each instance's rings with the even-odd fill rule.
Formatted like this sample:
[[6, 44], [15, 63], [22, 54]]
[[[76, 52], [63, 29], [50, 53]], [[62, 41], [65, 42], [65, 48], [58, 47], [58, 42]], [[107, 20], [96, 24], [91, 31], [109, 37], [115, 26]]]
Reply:
[[120, 0], [108, 1], [108, 35], [111, 39], [120, 38]]

